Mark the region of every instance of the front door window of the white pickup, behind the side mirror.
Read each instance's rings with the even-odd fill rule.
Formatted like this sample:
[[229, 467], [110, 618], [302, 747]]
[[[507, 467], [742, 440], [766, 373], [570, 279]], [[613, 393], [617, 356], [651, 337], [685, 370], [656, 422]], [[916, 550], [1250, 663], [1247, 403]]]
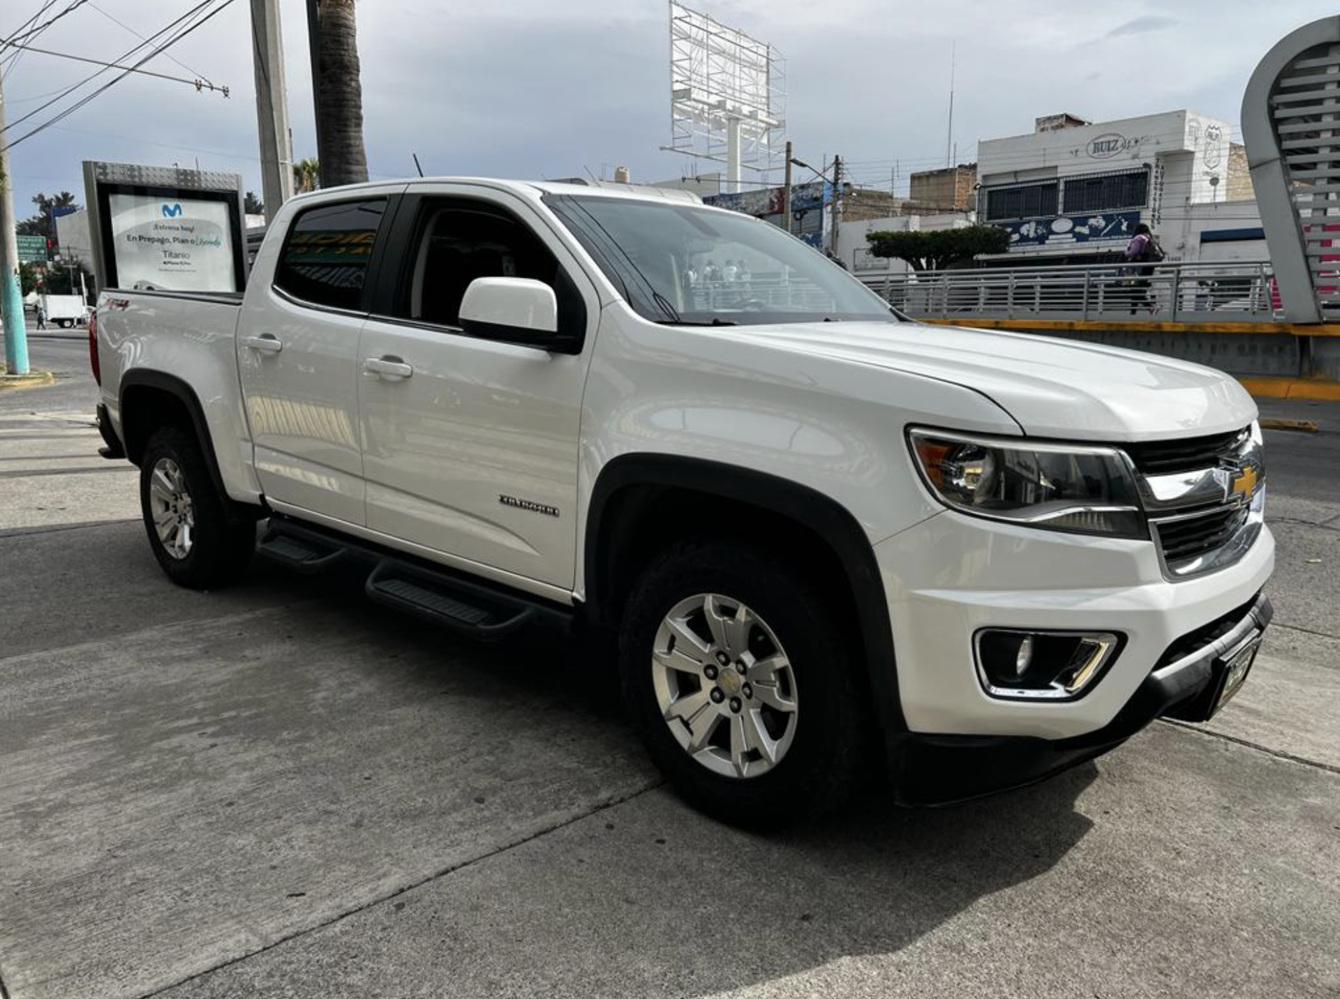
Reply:
[[553, 288], [559, 332], [580, 337], [586, 307], [549, 249], [520, 220], [489, 205], [426, 202], [395, 315], [458, 327], [461, 300], [477, 277], [529, 277]]

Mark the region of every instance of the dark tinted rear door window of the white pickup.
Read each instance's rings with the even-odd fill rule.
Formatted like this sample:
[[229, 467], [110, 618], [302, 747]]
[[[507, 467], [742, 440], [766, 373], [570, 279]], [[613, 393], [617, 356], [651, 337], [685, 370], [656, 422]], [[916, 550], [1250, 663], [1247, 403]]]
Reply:
[[344, 201], [303, 212], [288, 229], [275, 287], [314, 305], [358, 309], [386, 200]]

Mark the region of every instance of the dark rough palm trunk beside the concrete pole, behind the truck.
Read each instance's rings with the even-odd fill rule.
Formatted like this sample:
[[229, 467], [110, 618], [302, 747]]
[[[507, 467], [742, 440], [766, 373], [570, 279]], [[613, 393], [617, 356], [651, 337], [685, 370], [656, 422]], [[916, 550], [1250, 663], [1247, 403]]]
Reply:
[[327, 187], [367, 179], [354, 0], [307, 0], [316, 155]]

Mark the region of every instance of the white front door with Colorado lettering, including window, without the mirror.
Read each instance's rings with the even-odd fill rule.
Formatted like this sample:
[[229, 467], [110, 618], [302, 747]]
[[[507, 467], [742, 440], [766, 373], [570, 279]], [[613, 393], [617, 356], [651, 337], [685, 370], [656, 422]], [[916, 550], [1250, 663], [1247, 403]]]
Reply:
[[[393, 242], [402, 260], [359, 351], [367, 526], [517, 585], [571, 589], [594, 287], [539, 213], [504, 191], [411, 189]], [[583, 354], [466, 335], [466, 287], [504, 276], [555, 287], [560, 328], [582, 331]]]

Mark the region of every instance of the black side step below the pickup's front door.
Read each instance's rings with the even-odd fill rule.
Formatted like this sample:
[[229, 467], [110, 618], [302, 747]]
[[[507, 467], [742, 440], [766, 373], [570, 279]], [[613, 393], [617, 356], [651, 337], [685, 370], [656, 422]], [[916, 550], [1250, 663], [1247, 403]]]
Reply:
[[[386, 560], [367, 577], [367, 596], [482, 641], [507, 637], [535, 619], [535, 608], [464, 580], [448, 580]], [[469, 592], [474, 591], [474, 592]]]

